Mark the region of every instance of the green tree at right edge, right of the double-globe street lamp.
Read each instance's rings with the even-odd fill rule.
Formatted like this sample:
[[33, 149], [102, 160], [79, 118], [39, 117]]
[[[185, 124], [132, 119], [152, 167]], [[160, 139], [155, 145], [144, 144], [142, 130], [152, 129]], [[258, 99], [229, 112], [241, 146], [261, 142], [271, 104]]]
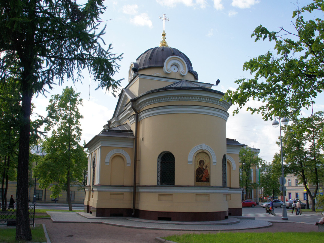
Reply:
[[[323, 172], [321, 134], [324, 129], [323, 112], [311, 117], [296, 119], [283, 127], [283, 150], [286, 163], [285, 173], [293, 173], [303, 182], [312, 210], [315, 211], [315, 196]], [[278, 142], [279, 145], [279, 142]], [[316, 185], [312, 193], [307, 184]]]

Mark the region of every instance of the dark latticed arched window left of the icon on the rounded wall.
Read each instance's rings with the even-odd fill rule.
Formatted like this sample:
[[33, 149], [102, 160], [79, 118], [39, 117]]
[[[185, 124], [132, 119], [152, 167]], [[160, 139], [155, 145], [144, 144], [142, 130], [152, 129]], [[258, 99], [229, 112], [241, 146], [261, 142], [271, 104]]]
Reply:
[[157, 185], [174, 185], [174, 155], [168, 151], [157, 158]]

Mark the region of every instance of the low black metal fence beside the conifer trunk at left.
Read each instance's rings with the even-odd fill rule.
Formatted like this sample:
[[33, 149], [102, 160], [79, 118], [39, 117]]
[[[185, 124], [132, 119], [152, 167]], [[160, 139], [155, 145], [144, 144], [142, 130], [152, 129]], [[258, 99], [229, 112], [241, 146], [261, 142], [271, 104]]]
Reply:
[[[7, 226], [16, 226], [17, 220], [17, 209], [16, 206], [13, 208], [7, 208], [5, 211], [0, 208], [0, 225], [7, 225]], [[28, 207], [28, 214], [29, 214], [29, 224], [34, 226], [35, 222], [35, 205]]]

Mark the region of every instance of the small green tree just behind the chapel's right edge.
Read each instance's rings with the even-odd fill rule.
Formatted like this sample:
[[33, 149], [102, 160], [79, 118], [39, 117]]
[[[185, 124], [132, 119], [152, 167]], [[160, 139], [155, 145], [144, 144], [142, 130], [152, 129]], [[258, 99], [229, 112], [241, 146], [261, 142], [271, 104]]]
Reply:
[[245, 189], [245, 199], [247, 199], [248, 191], [258, 186], [252, 181], [252, 169], [258, 167], [263, 161], [255, 151], [250, 147], [243, 147], [239, 152], [239, 161], [241, 163], [240, 187]]

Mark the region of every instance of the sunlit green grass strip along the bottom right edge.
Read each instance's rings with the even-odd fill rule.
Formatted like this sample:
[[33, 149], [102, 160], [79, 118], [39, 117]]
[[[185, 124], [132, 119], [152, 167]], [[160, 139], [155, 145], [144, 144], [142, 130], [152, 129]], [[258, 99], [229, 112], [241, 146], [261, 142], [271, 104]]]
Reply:
[[184, 234], [165, 237], [178, 243], [265, 243], [265, 242], [323, 242], [322, 232], [265, 232], [265, 233], [217, 233]]

